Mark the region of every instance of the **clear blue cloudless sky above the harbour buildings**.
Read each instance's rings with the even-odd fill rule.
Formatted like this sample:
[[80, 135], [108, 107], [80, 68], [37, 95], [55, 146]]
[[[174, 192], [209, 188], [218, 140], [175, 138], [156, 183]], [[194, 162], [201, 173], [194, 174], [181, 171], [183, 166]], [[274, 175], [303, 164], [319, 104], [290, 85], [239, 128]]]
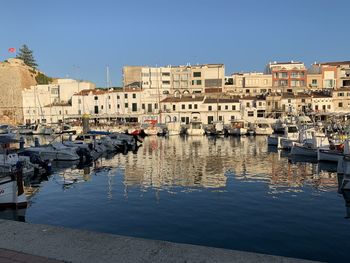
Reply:
[[27, 44], [53, 77], [121, 85], [124, 65], [350, 59], [348, 0], [1, 0], [0, 61]]

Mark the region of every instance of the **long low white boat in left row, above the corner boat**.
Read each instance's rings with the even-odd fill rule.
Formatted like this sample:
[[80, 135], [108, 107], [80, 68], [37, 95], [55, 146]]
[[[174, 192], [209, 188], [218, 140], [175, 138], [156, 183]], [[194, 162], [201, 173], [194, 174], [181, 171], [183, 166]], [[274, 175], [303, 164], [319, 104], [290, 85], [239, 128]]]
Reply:
[[23, 152], [37, 154], [42, 160], [76, 161], [80, 159], [76, 150], [74, 147], [67, 147], [60, 142], [54, 142], [38, 147], [29, 147], [24, 149]]

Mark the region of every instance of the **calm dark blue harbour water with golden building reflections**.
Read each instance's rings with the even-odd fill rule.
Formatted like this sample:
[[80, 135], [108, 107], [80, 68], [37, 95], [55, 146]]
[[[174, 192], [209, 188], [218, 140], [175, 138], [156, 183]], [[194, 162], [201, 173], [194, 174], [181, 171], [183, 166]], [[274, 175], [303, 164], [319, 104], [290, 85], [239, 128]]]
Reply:
[[332, 169], [288, 162], [266, 137], [148, 137], [135, 154], [27, 182], [25, 221], [345, 262], [350, 221]]

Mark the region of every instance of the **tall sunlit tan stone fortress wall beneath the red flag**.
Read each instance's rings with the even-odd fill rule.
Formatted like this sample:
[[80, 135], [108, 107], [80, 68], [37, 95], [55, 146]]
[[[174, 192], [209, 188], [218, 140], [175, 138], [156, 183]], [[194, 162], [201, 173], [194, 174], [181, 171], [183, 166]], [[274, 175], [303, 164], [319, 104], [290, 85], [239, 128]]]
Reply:
[[19, 59], [0, 62], [0, 122], [23, 123], [22, 90], [36, 85], [36, 73]]

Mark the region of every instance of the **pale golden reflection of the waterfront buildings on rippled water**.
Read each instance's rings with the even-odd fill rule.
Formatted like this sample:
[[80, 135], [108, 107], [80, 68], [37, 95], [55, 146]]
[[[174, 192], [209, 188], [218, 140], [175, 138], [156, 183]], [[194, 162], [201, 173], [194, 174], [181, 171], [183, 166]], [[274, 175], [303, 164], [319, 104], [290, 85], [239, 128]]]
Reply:
[[288, 154], [268, 151], [266, 137], [148, 137], [136, 154], [117, 155], [113, 165], [125, 169], [124, 184], [167, 189], [174, 186], [224, 188], [227, 180], [265, 182], [271, 193], [322, 191], [337, 187], [328, 167], [288, 161]]

